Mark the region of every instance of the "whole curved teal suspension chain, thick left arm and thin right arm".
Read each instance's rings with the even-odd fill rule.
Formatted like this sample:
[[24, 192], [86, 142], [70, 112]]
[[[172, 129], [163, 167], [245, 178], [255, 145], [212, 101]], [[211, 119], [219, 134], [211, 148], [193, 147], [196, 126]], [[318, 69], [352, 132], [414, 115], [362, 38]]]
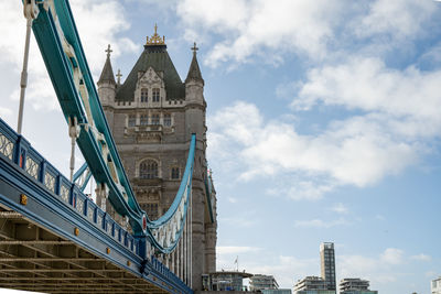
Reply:
[[118, 155], [68, 1], [42, 1], [39, 9], [32, 29], [64, 116], [67, 121], [79, 124], [76, 141], [94, 178], [109, 188], [110, 204], [118, 214], [128, 216], [136, 236], [147, 237], [162, 253], [172, 252], [182, 236], [190, 203], [195, 135], [190, 142], [186, 168], [173, 204], [161, 218], [149, 220], [135, 198]]

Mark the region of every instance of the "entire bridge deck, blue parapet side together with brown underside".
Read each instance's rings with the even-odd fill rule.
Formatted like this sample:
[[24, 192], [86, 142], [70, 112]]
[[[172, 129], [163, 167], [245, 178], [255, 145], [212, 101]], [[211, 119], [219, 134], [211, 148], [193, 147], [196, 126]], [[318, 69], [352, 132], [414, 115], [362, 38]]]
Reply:
[[193, 293], [0, 119], [0, 287]]

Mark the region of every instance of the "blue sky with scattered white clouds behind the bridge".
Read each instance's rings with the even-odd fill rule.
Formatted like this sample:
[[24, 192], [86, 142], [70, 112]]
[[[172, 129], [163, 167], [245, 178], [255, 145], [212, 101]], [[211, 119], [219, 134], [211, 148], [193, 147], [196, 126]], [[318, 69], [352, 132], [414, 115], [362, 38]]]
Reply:
[[[320, 275], [430, 293], [441, 275], [441, 2], [71, 0], [98, 79], [111, 44], [122, 80], [146, 36], [165, 35], [184, 79], [205, 79], [217, 192], [217, 270]], [[17, 128], [25, 20], [0, 18], [0, 117]], [[67, 126], [32, 37], [23, 134], [68, 174]], [[77, 166], [83, 162], [77, 156]]]

